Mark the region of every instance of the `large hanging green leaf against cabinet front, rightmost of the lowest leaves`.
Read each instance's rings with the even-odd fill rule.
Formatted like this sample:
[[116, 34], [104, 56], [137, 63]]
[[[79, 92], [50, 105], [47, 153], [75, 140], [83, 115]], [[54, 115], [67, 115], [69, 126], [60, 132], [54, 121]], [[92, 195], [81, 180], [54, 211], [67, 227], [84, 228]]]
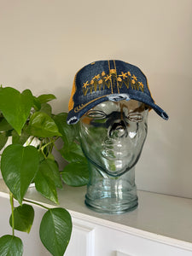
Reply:
[[72, 233], [72, 219], [63, 208], [49, 209], [40, 224], [40, 239], [53, 256], [63, 256]]

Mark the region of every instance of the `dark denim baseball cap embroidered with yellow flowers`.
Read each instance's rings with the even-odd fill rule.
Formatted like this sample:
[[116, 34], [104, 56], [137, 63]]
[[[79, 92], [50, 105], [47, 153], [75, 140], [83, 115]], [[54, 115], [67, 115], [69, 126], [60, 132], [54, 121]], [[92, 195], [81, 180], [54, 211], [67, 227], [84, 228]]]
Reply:
[[138, 67], [115, 60], [92, 62], [75, 75], [67, 124], [76, 124], [84, 113], [101, 102], [131, 99], [145, 103], [163, 119], [169, 118], [155, 104], [148, 80]]

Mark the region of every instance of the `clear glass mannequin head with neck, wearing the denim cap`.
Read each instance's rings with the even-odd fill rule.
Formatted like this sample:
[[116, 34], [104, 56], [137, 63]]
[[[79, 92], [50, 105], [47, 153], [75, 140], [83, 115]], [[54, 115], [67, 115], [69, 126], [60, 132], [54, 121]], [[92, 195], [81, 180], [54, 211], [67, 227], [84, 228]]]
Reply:
[[135, 169], [148, 131], [148, 107], [134, 100], [102, 102], [79, 121], [90, 169], [85, 204], [97, 212], [137, 207]]

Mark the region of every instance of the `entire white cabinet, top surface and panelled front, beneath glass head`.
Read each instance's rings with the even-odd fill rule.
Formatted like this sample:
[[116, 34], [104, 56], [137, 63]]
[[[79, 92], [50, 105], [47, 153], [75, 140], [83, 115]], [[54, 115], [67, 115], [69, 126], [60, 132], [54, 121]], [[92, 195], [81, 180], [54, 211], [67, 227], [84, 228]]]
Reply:
[[[73, 219], [72, 238], [65, 256], [192, 256], [192, 200], [139, 192], [137, 210], [109, 215], [90, 211], [84, 206], [84, 190], [70, 189], [60, 192], [61, 207], [69, 207]], [[55, 207], [48, 205], [33, 188], [26, 199]], [[3, 236], [11, 229], [9, 195], [1, 181], [0, 206], [0, 236]], [[38, 235], [45, 211], [39, 207], [34, 209], [30, 234], [19, 231], [15, 234], [23, 240], [24, 256], [50, 255]]]

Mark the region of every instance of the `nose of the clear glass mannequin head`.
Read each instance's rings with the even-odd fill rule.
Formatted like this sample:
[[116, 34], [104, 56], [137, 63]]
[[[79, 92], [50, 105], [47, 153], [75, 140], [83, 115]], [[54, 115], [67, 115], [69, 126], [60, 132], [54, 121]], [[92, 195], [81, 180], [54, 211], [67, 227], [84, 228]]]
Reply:
[[109, 127], [108, 136], [115, 139], [120, 137], [127, 137], [128, 132], [124, 120], [116, 120], [113, 125]]

